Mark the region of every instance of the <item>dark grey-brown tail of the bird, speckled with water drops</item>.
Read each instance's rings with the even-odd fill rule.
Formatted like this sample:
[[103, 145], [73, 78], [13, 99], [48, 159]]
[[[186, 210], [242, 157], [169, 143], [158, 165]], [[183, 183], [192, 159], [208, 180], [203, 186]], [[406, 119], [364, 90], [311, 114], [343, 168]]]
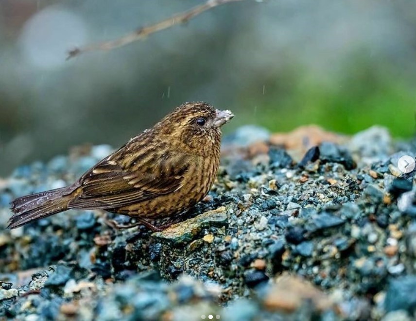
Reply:
[[57, 188], [33, 195], [19, 197], [10, 203], [14, 215], [9, 219], [8, 228], [14, 229], [68, 209], [70, 195], [67, 187]]

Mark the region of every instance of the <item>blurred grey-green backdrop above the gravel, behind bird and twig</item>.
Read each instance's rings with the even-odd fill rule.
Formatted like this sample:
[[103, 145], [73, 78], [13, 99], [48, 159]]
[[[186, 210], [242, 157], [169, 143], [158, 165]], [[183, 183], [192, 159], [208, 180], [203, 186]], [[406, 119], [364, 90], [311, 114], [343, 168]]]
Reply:
[[184, 101], [225, 127], [414, 132], [416, 1], [245, 0], [65, 61], [202, 0], [1, 0], [0, 176], [84, 143], [118, 147]]

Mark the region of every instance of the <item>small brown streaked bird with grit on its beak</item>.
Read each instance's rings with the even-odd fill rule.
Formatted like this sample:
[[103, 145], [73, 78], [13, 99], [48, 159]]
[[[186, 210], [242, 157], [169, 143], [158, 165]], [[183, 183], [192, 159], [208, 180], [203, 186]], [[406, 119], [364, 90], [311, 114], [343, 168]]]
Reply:
[[104, 209], [148, 220], [178, 216], [201, 201], [220, 162], [221, 126], [234, 115], [187, 102], [130, 139], [74, 184], [17, 198], [9, 228], [68, 209]]

